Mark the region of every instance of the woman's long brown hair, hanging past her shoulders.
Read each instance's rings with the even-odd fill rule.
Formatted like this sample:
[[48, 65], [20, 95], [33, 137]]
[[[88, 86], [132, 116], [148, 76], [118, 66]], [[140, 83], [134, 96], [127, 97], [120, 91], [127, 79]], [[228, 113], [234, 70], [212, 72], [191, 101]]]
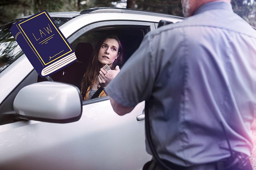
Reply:
[[113, 62], [112, 66], [110, 67], [111, 70], [114, 70], [115, 67], [118, 65], [120, 68], [123, 64], [123, 47], [122, 44], [120, 42], [120, 40], [118, 39], [117, 35], [108, 35], [106, 37], [103, 37], [102, 39], [100, 39], [95, 47], [95, 50], [92, 53], [92, 57], [91, 57], [91, 61], [84, 73], [84, 77], [82, 79], [81, 82], [81, 97], [82, 100], [85, 97], [85, 94], [90, 90], [89, 87], [91, 87], [91, 85], [94, 82], [95, 78], [100, 74], [100, 69], [101, 69], [101, 63], [98, 60], [98, 55], [99, 55], [99, 51], [100, 48], [102, 46], [102, 44], [107, 40], [107, 39], [114, 39], [117, 40], [119, 48], [117, 51], [118, 57], [117, 59]]

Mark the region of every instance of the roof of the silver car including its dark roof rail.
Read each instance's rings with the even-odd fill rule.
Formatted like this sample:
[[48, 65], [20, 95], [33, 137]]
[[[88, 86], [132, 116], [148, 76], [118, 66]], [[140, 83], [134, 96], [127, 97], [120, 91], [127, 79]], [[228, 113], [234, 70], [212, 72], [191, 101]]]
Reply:
[[[170, 14], [159, 13], [159, 12], [143, 11], [143, 10], [135, 10], [135, 9], [127, 9], [127, 8], [115, 8], [115, 7], [89, 8], [89, 9], [83, 10], [81, 12], [78, 12], [78, 11], [49, 12], [49, 15], [52, 18], [75, 18], [77, 16], [84, 15], [84, 14], [105, 13], [105, 12], [126, 13], [126, 14], [141, 14], [141, 15], [150, 15], [150, 16], [184, 19], [183, 17], [174, 16], [174, 15], [170, 15]], [[30, 16], [32, 16], [32, 15], [27, 15], [27, 16], [24, 16], [24, 17], [20, 17], [18, 19], [27, 18], [27, 17], [30, 17]]]

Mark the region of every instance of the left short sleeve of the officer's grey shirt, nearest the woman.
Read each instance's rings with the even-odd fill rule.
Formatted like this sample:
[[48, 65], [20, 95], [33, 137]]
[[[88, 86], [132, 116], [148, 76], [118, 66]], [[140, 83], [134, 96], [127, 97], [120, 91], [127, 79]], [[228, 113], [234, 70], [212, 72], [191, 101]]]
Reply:
[[115, 101], [133, 107], [149, 99], [156, 76], [152, 50], [151, 39], [147, 34], [120, 73], [105, 88]]

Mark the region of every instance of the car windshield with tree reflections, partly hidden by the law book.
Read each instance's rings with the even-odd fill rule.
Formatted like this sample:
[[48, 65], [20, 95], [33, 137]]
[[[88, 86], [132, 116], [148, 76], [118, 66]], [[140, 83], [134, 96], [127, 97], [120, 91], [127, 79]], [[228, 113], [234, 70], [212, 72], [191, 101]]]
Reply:
[[[58, 27], [71, 20], [71, 18], [52, 19]], [[10, 32], [11, 26], [21, 20], [24, 20], [24, 18], [13, 20], [0, 26], [0, 73], [23, 54], [23, 51]]]

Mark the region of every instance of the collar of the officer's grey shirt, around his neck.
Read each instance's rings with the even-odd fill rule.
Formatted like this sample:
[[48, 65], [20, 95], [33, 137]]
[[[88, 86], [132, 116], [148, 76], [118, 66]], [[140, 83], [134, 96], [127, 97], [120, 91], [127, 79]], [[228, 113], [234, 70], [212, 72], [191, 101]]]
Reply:
[[199, 14], [204, 11], [213, 10], [213, 9], [224, 9], [224, 10], [232, 10], [232, 5], [229, 2], [226, 1], [214, 1], [209, 2], [206, 4], [203, 4], [201, 7], [199, 7], [196, 12], [193, 15]]

